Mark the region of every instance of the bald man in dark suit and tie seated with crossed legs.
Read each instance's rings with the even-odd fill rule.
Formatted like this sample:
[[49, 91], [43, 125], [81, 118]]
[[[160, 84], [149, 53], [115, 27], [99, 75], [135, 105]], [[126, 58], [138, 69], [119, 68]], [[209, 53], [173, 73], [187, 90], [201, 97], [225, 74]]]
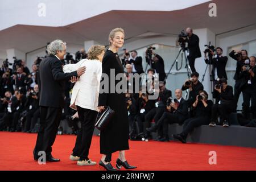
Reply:
[[169, 98], [167, 106], [162, 117], [158, 120], [155, 126], [147, 129], [148, 132], [155, 132], [159, 127], [163, 127], [163, 137], [159, 139], [160, 142], [169, 141], [168, 124], [179, 123], [182, 125], [185, 119], [188, 118], [188, 103], [182, 98], [182, 90], [175, 90], [176, 99]]

